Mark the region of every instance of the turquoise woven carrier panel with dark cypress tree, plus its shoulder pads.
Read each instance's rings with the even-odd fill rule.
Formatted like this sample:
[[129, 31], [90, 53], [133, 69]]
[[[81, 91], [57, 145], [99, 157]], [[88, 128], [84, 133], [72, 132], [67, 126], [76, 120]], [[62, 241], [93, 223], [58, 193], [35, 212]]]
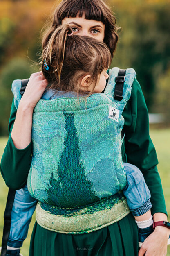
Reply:
[[[123, 100], [114, 100], [115, 77], [109, 70], [105, 93], [40, 99], [34, 108], [33, 156], [28, 175], [29, 193], [50, 206], [76, 208], [116, 195], [126, 183], [121, 157], [122, 112], [136, 77], [126, 70]], [[18, 108], [21, 80], [12, 91]]]

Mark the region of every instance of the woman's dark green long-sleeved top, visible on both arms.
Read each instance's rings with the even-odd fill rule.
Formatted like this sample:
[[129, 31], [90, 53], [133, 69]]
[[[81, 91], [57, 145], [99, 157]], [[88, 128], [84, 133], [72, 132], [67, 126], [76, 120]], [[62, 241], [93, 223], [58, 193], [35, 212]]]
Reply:
[[[2, 177], [10, 188], [20, 189], [27, 181], [31, 165], [32, 142], [22, 150], [17, 149], [11, 138], [13, 123], [16, 118], [14, 102], [9, 118], [9, 139], [2, 155], [0, 170]], [[165, 199], [159, 173], [157, 171], [157, 154], [149, 136], [148, 109], [139, 82], [132, 84], [130, 100], [123, 111], [125, 118], [125, 138], [122, 145], [123, 162], [136, 165], [144, 175], [150, 189], [152, 214], [166, 213]]]

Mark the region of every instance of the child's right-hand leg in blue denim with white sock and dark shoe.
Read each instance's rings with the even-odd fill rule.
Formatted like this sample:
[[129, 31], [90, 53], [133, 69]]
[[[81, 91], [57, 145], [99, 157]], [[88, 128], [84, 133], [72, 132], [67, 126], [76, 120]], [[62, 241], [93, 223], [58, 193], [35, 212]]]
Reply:
[[123, 193], [128, 206], [135, 217], [139, 229], [139, 246], [152, 232], [153, 219], [150, 208], [150, 191], [145, 183], [143, 174], [135, 165], [123, 163], [127, 174], [127, 186]]

